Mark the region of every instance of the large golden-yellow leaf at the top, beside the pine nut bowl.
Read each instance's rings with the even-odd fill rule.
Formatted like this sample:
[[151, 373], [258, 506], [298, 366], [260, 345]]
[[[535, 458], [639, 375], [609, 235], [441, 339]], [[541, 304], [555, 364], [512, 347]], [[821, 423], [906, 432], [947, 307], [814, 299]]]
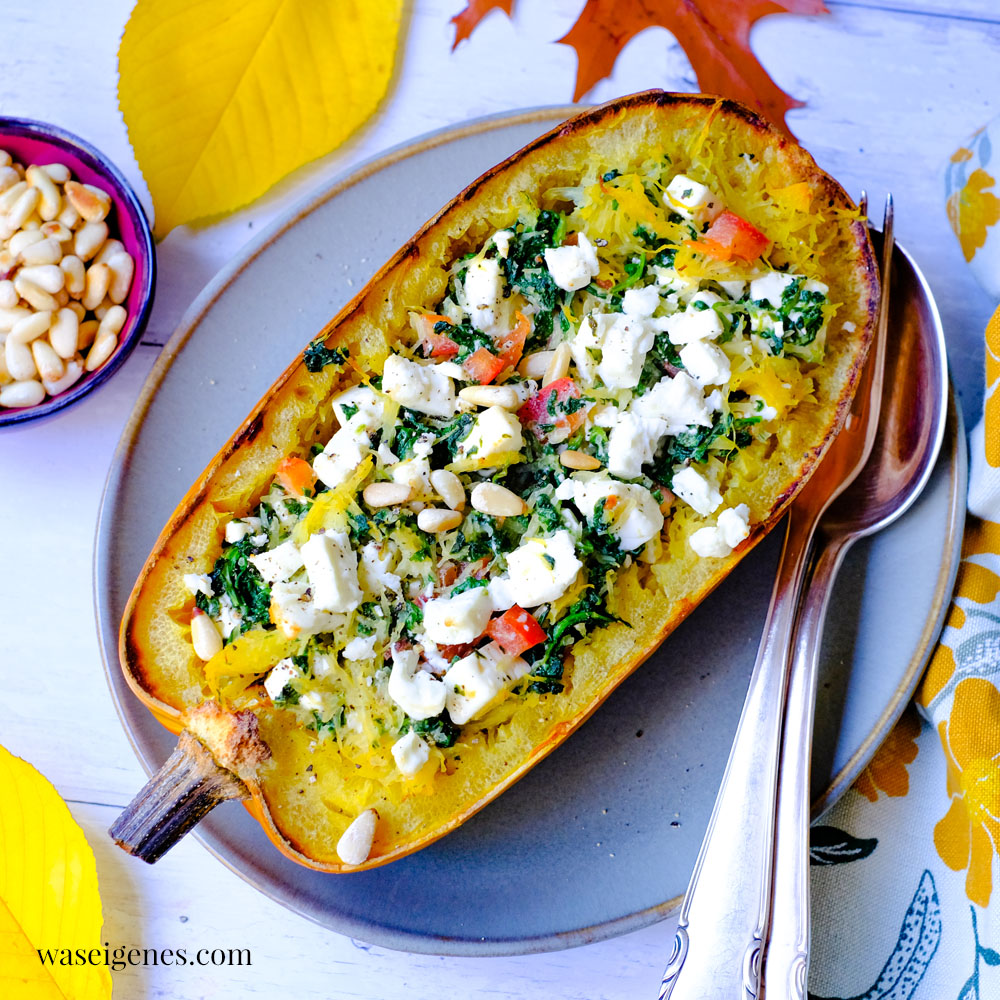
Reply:
[[330, 152], [392, 78], [403, 0], [138, 0], [118, 101], [156, 233], [232, 212]]

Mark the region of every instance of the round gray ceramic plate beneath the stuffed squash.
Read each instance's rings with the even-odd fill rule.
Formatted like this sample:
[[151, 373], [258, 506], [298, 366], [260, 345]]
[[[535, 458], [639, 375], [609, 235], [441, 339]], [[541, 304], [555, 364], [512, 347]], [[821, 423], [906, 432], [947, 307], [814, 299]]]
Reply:
[[[220, 274], [164, 348], [111, 469], [95, 557], [108, 677], [147, 771], [173, 738], [122, 681], [116, 635], [160, 526], [274, 377], [378, 264], [456, 191], [570, 110], [439, 132], [331, 184]], [[897, 270], [906, 267], [904, 259]], [[858, 545], [841, 575], [823, 656], [817, 802], [848, 787], [926, 662], [957, 566], [963, 440], [953, 416], [924, 496], [876, 541]], [[666, 916], [687, 886], [725, 766], [780, 535], [744, 560], [580, 732], [427, 849], [375, 871], [324, 875], [280, 855], [235, 803], [197, 835], [290, 909], [391, 948], [544, 951]]]

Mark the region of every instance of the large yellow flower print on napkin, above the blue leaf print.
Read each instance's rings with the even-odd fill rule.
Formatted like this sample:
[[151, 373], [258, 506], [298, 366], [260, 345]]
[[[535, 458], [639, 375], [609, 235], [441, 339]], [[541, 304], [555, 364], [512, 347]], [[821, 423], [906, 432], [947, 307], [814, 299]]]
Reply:
[[1000, 845], [1000, 691], [981, 677], [955, 688], [951, 717], [938, 726], [951, 807], [934, 827], [934, 846], [952, 869], [967, 869], [965, 892], [988, 906]]

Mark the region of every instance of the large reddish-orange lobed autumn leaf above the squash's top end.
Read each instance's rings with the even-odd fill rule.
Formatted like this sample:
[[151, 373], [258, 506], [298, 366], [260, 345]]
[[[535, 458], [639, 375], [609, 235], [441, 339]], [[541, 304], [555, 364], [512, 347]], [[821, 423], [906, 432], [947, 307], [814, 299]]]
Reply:
[[[470, 4], [471, 6], [471, 4]], [[788, 131], [785, 113], [802, 107], [750, 50], [750, 29], [767, 14], [825, 14], [822, 0], [587, 0], [559, 39], [577, 51], [573, 100], [610, 75], [618, 53], [645, 28], [666, 28], [680, 42], [705, 93], [732, 97]]]

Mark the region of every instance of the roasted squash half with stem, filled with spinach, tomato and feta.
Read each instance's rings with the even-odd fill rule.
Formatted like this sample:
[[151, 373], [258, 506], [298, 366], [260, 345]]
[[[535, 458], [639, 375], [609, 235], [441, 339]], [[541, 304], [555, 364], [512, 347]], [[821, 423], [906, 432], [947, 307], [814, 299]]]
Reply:
[[876, 299], [855, 206], [730, 101], [626, 98], [489, 171], [161, 534], [121, 661], [184, 732], [113, 835], [155, 859], [244, 797], [336, 872], [456, 827], [775, 523], [846, 412]]

